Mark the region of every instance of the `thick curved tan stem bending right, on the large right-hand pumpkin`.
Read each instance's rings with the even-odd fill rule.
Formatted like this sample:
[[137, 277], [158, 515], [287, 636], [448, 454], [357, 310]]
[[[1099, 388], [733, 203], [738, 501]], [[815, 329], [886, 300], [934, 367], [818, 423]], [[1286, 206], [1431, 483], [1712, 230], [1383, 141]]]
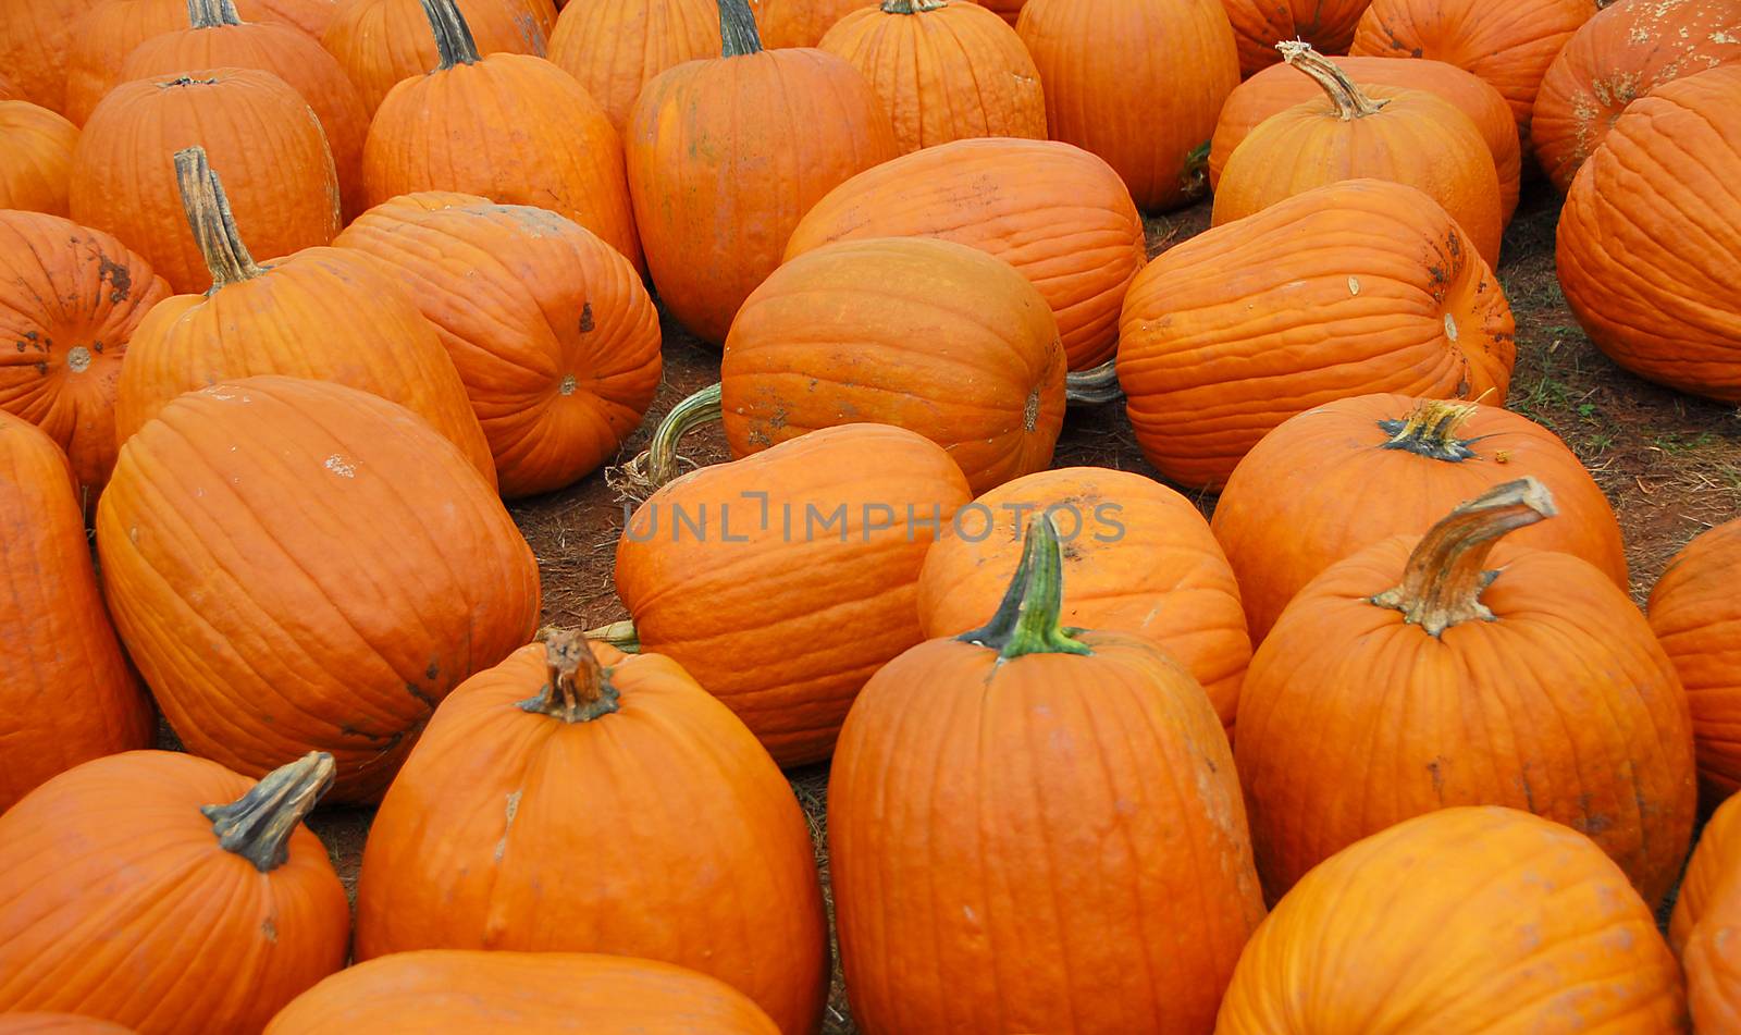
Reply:
[[1548, 486], [1534, 477], [1497, 484], [1429, 528], [1408, 554], [1402, 585], [1374, 596], [1372, 603], [1402, 612], [1405, 622], [1421, 626], [1428, 636], [1459, 622], [1492, 622], [1482, 591], [1497, 572], [1483, 568], [1487, 554], [1506, 533], [1556, 512]]

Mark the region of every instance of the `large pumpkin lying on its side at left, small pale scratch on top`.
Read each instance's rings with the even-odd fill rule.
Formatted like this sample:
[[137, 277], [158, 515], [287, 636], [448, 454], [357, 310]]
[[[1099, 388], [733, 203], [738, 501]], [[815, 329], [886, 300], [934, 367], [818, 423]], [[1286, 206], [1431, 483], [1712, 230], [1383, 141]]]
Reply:
[[115, 626], [181, 742], [247, 774], [329, 751], [341, 802], [378, 796], [447, 690], [538, 622], [536, 561], [489, 483], [421, 416], [329, 382], [172, 401], [122, 446], [96, 528]]

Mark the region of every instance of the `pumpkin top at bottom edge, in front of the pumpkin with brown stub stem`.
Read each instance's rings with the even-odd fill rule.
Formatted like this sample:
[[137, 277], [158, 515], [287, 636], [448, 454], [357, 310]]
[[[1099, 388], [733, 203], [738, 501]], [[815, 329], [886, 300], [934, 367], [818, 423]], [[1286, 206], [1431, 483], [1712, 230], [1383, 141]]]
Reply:
[[266, 1025], [266, 1035], [348, 1032], [778, 1035], [780, 1028], [742, 991], [670, 964], [465, 950], [357, 964], [296, 997]]

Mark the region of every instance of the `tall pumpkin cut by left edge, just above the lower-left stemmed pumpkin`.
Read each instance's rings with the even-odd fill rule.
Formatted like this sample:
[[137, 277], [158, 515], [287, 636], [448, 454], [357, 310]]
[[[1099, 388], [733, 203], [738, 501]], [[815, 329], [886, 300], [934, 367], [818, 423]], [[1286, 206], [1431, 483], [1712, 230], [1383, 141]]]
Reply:
[[0, 411], [0, 812], [80, 761], [150, 748], [157, 714], [120, 653], [66, 457]]

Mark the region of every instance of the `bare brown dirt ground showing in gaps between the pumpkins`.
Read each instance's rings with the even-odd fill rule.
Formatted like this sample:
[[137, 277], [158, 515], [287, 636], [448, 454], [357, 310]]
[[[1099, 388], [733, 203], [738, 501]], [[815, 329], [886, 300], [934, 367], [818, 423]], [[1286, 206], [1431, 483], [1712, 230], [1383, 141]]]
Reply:
[[[1508, 406], [1558, 432], [1595, 474], [1619, 512], [1631, 563], [1633, 596], [1642, 605], [1663, 566], [1697, 531], [1741, 514], [1741, 416], [1640, 382], [1609, 362], [1579, 331], [1553, 268], [1558, 195], [1546, 183], [1525, 190], [1504, 242], [1499, 279], [1518, 322], [1518, 364]], [[1208, 204], [1151, 218], [1149, 253], [1200, 233]], [[665, 319], [665, 383], [648, 423], [629, 441], [622, 460], [646, 443], [651, 425], [674, 402], [710, 385], [719, 352]], [[684, 441], [695, 463], [726, 460], [717, 429]], [[1071, 409], [1055, 463], [1139, 470], [1156, 477], [1137, 451], [1121, 404]], [[1208, 514], [1212, 495], [1193, 497]], [[595, 472], [564, 491], [519, 502], [514, 518], [543, 575], [547, 624], [595, 627], [627, 617], [611, 587], [611, 561], [623, 526], [623, 502]], [[810, 817], [817, 862], [827, 880], [827, 767], [789, 774]], [[310, 826], [326, 840], [346, 885], [355, 885], [369, 810], [329, 808]], [[836, 967], [825, 1032], [853, 1032]]]

